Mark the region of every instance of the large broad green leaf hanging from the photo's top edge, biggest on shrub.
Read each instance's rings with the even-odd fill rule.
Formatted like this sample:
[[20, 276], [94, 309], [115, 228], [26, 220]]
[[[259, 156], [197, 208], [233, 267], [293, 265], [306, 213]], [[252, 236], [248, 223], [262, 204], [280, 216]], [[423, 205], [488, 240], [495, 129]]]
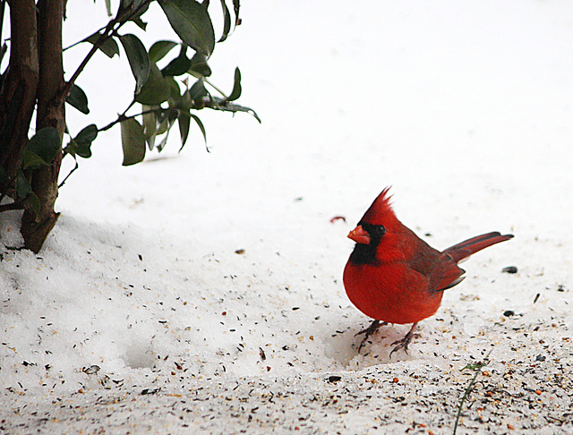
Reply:
[[195, 0], [159, 0], [175, 33], [193, 50], [209, 57], [215, 48], [215, 32], [207, 7]]

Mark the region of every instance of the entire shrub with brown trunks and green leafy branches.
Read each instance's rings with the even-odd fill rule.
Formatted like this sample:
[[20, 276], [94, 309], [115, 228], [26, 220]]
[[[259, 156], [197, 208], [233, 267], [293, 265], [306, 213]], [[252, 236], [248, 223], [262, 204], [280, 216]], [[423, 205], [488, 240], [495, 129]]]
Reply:
[[[164, 149], [175, 124], [179, 126], [180, 149], [183, 149], [188, 138], [192, 136], [195, 124], [205, 139], [205, 127], [195, 115], [196, 111], [203, 108], [232, 113], [245, 112], [261, 121], [252, 109], [235, 104], [235, 100], [242, 93], [241, 73], [238, 68], [235, 70], [233, 89], [229, 94], [219, 90], [208, 79], [211, 76], [208, 62], [216, 43], [226, 40], [234, 28], [233, 24], [236, 27], [241, 21], [239, 0], [219, 0], [223, 22], [218, 40], [210, 19], [209, 0], [119, 0], [115, 14], [112, 13], [112, 2], [104, 2], [109, 21], [98, 30], [92, 30], [93, 33], [87, 38], [73, 44], [85, 44], [90, 48], [76, 70], [66, 72], [64, 77], [60, 56], [65, 49], [61, 47], [61, 35], [54, 33], [62, 31], [60, 20], [63, 17], [60, 7], [63, 4], [59, 0], [39, 2], [38, 8], [34, 9], [35, 2], [31, 3], [31, 7], [30, 2], [24, 2], [25, 7], [17, 7], [21, 2], [2, 1], [4, 6], [11, 8], [11, 32], [18, 31], [14, 31], [9, 38], [11, 55], [8, 68], [11, 73], [6, 73], [7, 68], [4, 73], [0, 72], [4, 111], [9, 112], [7, 115], [3, 114], [4, 117], [0, 116], [4, 119], [0, 130], [5, 133], [3, 138], [9, 138], [11, 143], [9, 147], [0, 147], [4, 151], [0, 153], [3, 162], [0, 167], [0, 200], [4, 199], [4, 196], [13, 200], [10, 203], [0, 201], [0, 212], [24, 209], [21, 234], [26, 247], [34, 252], [39, 251], [56, 223], [58, 213], [54, 210], [54, 201], [58, 188], [79, 167], [78, 158], [91, 157], [91, 145], [99, 132], [120, 124], [123, 164], [129, 166], [141, 162], [145, 158], [147, 148], [157, 149], [159, 152]], [[159, 40], [148, 50], [141, 37], [134, 32], [141, 35], [141, 32], [147, 29], [147, 23], [142, 17], [152, 2], [157, 2], [160, 10], [165, 13], [176, 38], [174, 35], [175, 41]], [[231, 2], [235, 20], [230, 10]], [[38, 25], [34, 21], [38, 21]], [[124, 25], [128, 23], [135, 24], [131, 26], [133, 33], [124, 31]], [[38, 53], [38, 45], [30, 44], [26, 39], [29, 37], [30, 40], [46, 43], [49, 47], [41, 49], [50, 52], [53, 50], [54, 56]], [[0, 61], [7, 52], [7, 47], [6, 43], [0, 46]], [[178, 47], [178, 50], [174, 54], [175, 47]], [[123, 113], [104, 127], [86, 123], [86, 127], [73, 135], [71, 132], [77, 131], [76, 127], [69, 128], [65, 125], [62, 132], [61, 127], [65, 124], [64, 101], [81, 114], [90, 114], [89, 98], [79, 86], [79, 78], [86, 65], [100, 53], [110, 59], [117, 55], [129, 63], [134, 79], [133, 99]], [[38, 100], [42, 92], [30, 88], [30, 92], [22, 94], [18, 91], [19, 85], [13, 86], [14, 83], [23, 82], [19, 73], [22, 68], [18, 67], [18, 63], [35, 64], [33, 59], [36, 57], [39, 58], [40, 71], [47, 72], [40, 74], [42, 80], [38, 84], [39, 90], [47, 90], [49, 94], [47, 105], [44, 104], [43, 98]], [[56, 67], [48, 68], [47, 62], [54, 62]], [[30, 73], [34, 73], [32, 69], [30, 67]], [[10, 82], [10, 86], [4, 86], [5, 82]], [[30, 86], [32, 84], [30, 81]], [[51, 85], [55, 85], [54, 92], [50, 90]], [[46, 88], [43, 88], [45, 86]], [[17, 89], [14, 91], [15, 88]], [[211, 95], [213, 90], [216, 96]], [[9, 105], [6, 102], [9, 102]], [[56, 131], [53, 127], [40, 129], [28, 140], [25, 133], [30, 128], [30, 119], [33, 119], [34, 112], [38, 125], [57, 125], [59, 130]], [[15, 124], [14, 119], [17, 121]], [[13, 128], [21, 129], [21, 134], [12, 135]], [[64, 138], [67, 145], [63, 148]], [[66, 156], [74, 159], [75, 166], [58, 185], [60, 164]], [[46, 166], [52, 167], [47, 171]]]

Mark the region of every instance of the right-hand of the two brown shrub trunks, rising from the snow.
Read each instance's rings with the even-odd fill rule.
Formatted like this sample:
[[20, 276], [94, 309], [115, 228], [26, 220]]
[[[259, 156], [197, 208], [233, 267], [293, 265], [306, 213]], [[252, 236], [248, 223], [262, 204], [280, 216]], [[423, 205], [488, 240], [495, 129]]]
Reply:
[[24, 247], [38, 252], [56, 225], [54, 211], [57, 178], [62, 162], [62, 138], [65, 128], [64, 64], [62, 58], [62, 23], [64, 0], [38, 1], [39, 81], [36, 130], [55, 127], [60, 134], [60, 151], [50, 166], [31, 171], [30, 185], [38, 196], [38, 213], [25, 209], [21, 220]]

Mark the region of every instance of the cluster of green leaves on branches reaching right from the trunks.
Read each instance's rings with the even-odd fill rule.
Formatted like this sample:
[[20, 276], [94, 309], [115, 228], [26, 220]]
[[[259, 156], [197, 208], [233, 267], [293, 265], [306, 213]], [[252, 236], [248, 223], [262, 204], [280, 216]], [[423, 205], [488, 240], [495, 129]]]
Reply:
[[[158, 1], [181, 42], [158, 40], [148, 50], [133, 33], [120, 33], [120, 28], [127, 21], [133, 21], [145, 30], [141, 15], [147, 11], [151, 1]], [[203, 140], [206, 141], [205, 127], [201, 119], [192, 113], [205, 107], [232, 113], [248, 113], [261, 122], [251, 108], [233, 103], [242, 93], [241, 72], [238, 67], [235, 69], [233, 89], [228, 95], [208, 81], [211, 75], [208, 61], [216, 42], [226, 40], [233, 25], [240, 23], [239, 1], [232, 2], [235, 20], [232, 19], [226, 0], [219, 1], [223, 11], [223, 30], [217, 41], [210, 20], [210, 2], [200, 3], [195, 0], [122, 0], [115, 18], [109, 21], [107, 27], [81, 40], [80, 42], [90, 43], [93, 46], [92, 51], [100, 50], [110, 58], [120, 55], [120, 46], [123, 47], [135, 80], [133, 101], [123, 114], [107, 126], [98, 129], [95, 124], [90, 124], [81, 130], [70, 139], [64, 148], [64, 155], [90, 158], [91, 143], [98, 136], [98, 132], [115, 124], [121, 125], [124, 166], [141, 162], [145, 158], [146, 148], [157, 149], [159, 152], [164, 149], [169, 132], [175, 124], [179, 126], [181, 150], [190, 136], [192, 124], [198, 126]], [[109, 7], [107, 3], [107, 11], [111, 14]], [[178, 53], [166, 59], [175, 47], [179, 47]], [[159, 69], [158, 63], [165, 66]], [[190, 80], [194, 80], [191, 87]], [[211, 95], [210, 89], [215, 90], [220, 97]], [[75, 84], [71, 87], [66, 102], [85, 115], [90, 113], [88, 97]], [[133, 113], [133, 107], [138, 104], [141, 105], [141, 111]]]

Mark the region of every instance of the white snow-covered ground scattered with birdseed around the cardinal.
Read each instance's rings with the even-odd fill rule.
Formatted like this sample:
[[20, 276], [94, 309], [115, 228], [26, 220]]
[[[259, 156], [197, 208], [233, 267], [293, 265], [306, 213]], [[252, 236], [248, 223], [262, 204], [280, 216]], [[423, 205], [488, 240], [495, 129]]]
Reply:
[[[69, 7], [89, 11], [70, 42], [104, 13]], [[489, 355], [458, 433], [571, 433], [573, 5], [242, 12], [213, 81], [230, 89], [238, 64], [240, 102], [261, 125], [201, 114], [210, 153], [193, 131], [177, 154], [174, 134], [127, 168], [119, 130], [101, 134], [38, 255], [10, 249], [16, 218], [2, 216], [0, 432], [452, 433], [475, 375], [462, 369]], [[146, 43], [172, 38], [162, 31]], [[133, 92], [118, 59], [83, 77], [92, 115], [69, 110], [78, 131]], [[391, 360], [408, 326], [358, 354], [370, 320], [341, 280], [346, 234], [387, 185], [398, 218], [436, 248], [516, 235], [468, 260]]]

